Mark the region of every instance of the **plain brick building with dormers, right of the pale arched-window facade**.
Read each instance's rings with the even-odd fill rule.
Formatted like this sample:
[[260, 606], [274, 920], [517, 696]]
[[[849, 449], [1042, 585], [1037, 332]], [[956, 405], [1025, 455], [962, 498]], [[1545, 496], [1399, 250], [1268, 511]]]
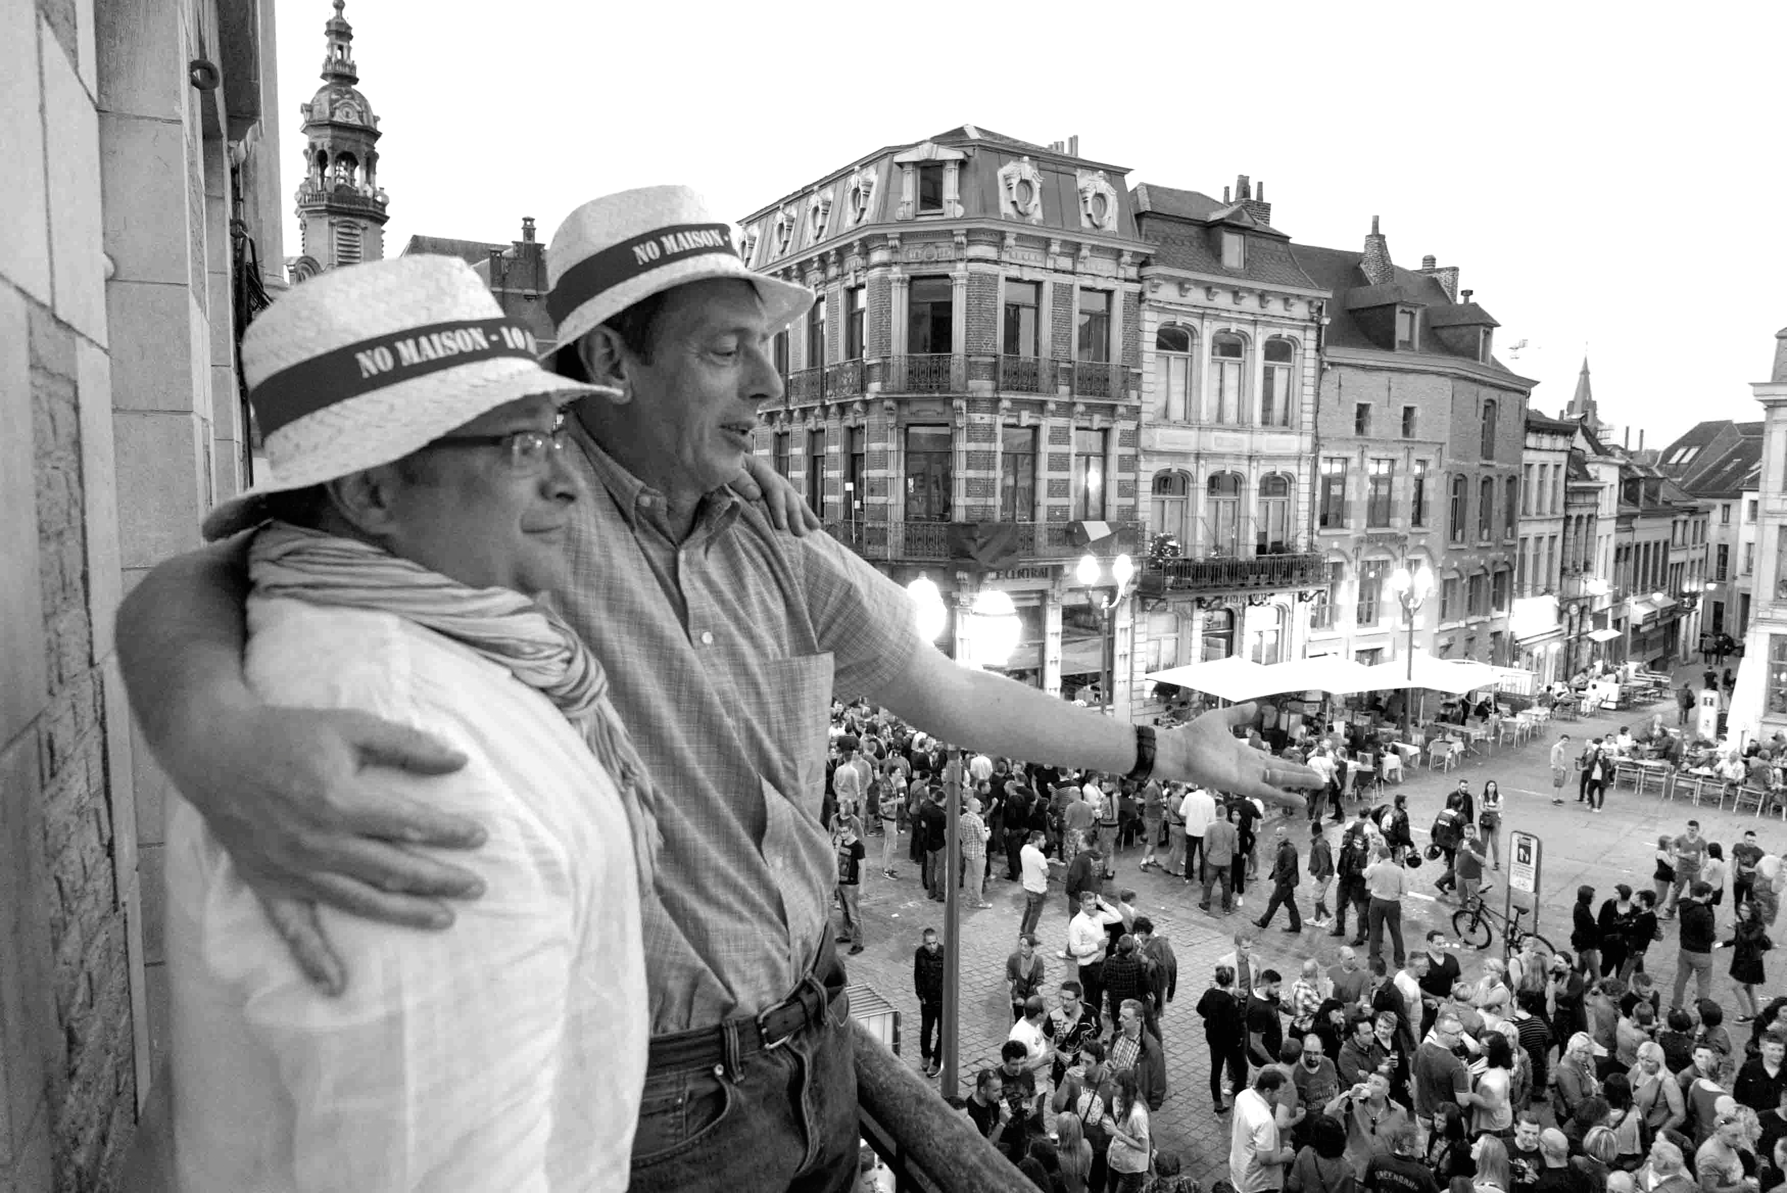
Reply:
[[1319, 342], [1315, 547], [1328, 563], [1308, 653], [1401, 658], [1388, 578], [1426, 563], [1414, 642], [1508, 664], [1519, 472], [1533, 381], [1492, 352], [1496, 320], [1458, 270], [1390, 259], [1376, 218], [1362, 252], [1296, 245], [1330, 299]]

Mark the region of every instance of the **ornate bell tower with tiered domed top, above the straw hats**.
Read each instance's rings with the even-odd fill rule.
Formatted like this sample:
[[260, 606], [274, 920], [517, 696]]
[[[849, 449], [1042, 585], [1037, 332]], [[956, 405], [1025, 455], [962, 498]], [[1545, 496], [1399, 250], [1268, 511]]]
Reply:
[[323, 86], [300, 104], [304, 113], [304, 182], [298, 186], [298, 234], [302, 241], [293, 281], [336, 265], [384, 258], [388, 199], [379, 186], [379, 118], [354, 86], [354, 27], [334, 0], [334, 16], [323, 25], [327, 52]]

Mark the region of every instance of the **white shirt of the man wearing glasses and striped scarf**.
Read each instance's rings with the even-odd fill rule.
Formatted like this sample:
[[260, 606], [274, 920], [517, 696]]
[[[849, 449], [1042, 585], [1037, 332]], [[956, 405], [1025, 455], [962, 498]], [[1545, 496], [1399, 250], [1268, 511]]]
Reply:
[[298, 973], [197, 810], [172, 796], [168, 978], [188, 1193], [624, 1189], [649, 1002], [625, 810], [583, 735], [506, 669], [390, 613], [248, 601], [270, 705], [359, 708], [465, 769], [361, 780], [490, 833], [441, 851], [481, 900], [445, 932], [320, 907], [338, 998]]

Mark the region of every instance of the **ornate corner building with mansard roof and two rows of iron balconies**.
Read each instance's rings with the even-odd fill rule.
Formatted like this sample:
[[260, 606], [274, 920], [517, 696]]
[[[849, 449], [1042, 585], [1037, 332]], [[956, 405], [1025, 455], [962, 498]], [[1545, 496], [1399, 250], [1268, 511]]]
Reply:
[[[860, 157], [742, 220], [745, 261], [818, 292], [777, 338], [758, 453], [899, 583], [927, 574], [970, 649], [977, 592], [1022, 624], [1006, 673], [1092, 687], [1101, 594], [1138, 553], [1140, 263], [1124, 170], [974, 125]], [[1103, 594], [1110, 592], [1104, 580]], [[1129, 601], [1113, 696], [1129, 712]]]

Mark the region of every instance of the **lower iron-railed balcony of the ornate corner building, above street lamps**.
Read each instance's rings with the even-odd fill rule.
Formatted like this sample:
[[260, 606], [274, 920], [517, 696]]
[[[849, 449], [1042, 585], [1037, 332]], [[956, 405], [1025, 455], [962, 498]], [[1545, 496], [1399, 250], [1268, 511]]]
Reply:
[[1110, 558], [1137, 551], [1140, 522], [1106, 522], [1112, 533], [1086, 540], [1076, 522], [826, 522], [826, 531], [865, 560], [983, 567], [1060, 563], [1083, 554]]

